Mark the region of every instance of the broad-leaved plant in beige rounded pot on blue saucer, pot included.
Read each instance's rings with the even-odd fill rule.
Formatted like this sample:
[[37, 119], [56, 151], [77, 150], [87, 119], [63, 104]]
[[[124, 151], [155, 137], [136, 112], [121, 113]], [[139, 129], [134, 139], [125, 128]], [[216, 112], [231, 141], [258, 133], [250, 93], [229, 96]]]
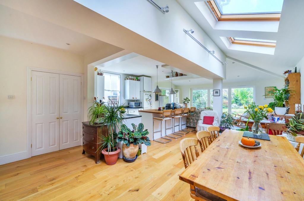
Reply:
[[131, 125], [132, 131], [125, 124], [121, 125], [117, 137], [117, 142], [123, 142], [123, 156], [127, 161], [136, 159], [138, 144], [151, 145], [150, 139], [147, 137], [149, 132], [147, 129], [143, 130], [143, 124], [140, 123], [136, 126], [132, 123]]

